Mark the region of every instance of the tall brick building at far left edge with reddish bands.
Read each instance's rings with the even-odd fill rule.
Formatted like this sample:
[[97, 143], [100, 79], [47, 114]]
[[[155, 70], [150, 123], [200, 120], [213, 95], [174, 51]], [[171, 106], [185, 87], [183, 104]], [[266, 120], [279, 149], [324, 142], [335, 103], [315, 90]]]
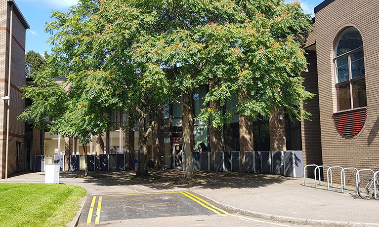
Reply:
[[[8, 175], [26, 170], [25, 123], [17, 116], [25, 108], [25, 101], [18, 87], [25, 79], [25, 30], [29, 25], [12, 0], [0, 0], [0, 96], [9, 96]], [[11, 43], [10, 43], [11, 34]], [[10, 57], [11, 53], [11, 57]], [[10, 60], [10, 64], [9, 64]], [[10, 93], [8, 94], [8, 70], [10, 65]], [[6, 129], [8, 102], [0, 101], [0, 177], [5, 177]]]

